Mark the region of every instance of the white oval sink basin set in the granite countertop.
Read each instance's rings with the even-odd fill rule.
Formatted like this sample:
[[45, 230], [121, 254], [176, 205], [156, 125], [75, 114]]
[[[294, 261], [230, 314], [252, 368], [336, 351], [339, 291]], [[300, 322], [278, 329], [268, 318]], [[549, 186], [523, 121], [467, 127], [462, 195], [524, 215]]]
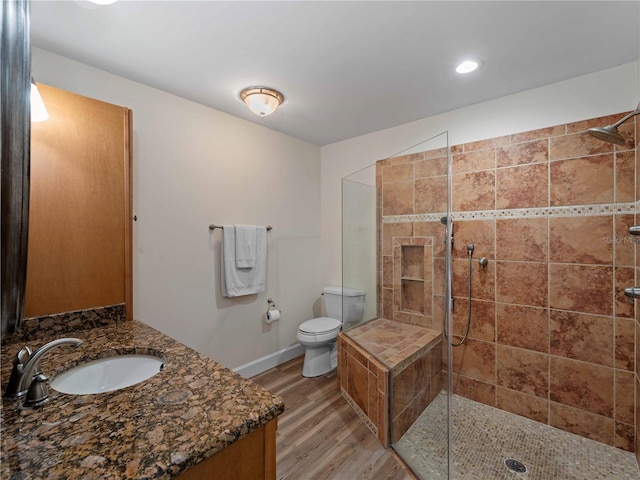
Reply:
[[56, 375], [50, 385], [58, 392], [73, 395], [111, 392], [153, 377], [164, 368], [165, 361], [143, 354], [100, 358]]

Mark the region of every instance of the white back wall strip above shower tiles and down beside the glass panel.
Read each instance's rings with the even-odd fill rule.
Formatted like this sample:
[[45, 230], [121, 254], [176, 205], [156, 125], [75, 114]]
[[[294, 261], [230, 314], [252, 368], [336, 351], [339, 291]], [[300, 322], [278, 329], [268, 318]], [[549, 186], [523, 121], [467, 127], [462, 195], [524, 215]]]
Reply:
[[323, 283], [340, 281], [343, 177], [443, 131], [457, 145], [633, 110], [638, 76], [637, 63], [622, 65], [322, 147]]

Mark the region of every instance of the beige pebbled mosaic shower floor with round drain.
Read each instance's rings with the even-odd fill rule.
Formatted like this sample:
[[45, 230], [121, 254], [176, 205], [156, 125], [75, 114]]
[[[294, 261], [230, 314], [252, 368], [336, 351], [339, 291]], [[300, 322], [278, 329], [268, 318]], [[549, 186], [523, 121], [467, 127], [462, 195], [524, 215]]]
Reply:
[[[447, 404], [440, 393], [394, 445], [424, 480], [447, 478]], [[640, 480], [635, 456], [528, 418], [453, 395], [454, 480]], [[505, 459], [522, 462], [515, 473]]]

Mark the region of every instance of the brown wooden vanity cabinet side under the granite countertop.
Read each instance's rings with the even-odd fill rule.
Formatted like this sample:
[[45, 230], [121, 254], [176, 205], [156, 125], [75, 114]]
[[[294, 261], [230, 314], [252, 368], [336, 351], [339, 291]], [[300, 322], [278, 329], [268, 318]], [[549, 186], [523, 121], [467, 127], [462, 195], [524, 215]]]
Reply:
[[178, 480], [275, 480], [277, 421], [198, 463]]

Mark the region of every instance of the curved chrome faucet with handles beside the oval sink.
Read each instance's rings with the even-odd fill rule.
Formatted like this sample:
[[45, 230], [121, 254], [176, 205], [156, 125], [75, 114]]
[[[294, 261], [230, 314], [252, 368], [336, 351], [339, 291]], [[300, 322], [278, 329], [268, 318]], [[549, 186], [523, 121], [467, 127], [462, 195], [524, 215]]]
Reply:
[[44, 404], [49, 397], [49, 389], [45, 383], [48, 377], [40, 371], [40, 359], [49, 350], [60, 345], [78, 347], [82, 345], [82, 340], [79, 338], [58, 338], [41, 346], [33, 353], [29, 347], [20, 349], [13, 359], [9, 384], [4, 392], [5, 398], [20, 398], [26, 395], [25, 407], [39, 407]]

